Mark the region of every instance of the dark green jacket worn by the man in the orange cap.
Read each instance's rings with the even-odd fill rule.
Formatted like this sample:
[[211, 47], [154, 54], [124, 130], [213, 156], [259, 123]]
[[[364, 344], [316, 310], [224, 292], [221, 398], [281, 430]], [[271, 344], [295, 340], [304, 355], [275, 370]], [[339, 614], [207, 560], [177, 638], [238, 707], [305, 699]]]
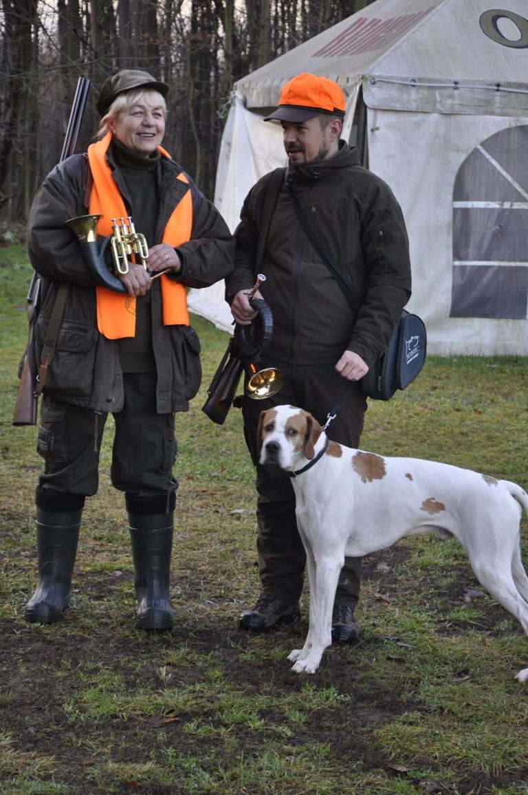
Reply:
[[[355, 308], [310, 242], [285, 182], [278, 195], [262, 263], [255, 262], [259, 223], [270, 174], [250, 190], [235, 231], [235, 269], [226, 279], [226, 298], [254, 284], [274, 319], [266, 359], [292, 364], [337, 362], [354, 351], [371, 366], [386, 348], [410, 298], [409, 241], [402, 210], [388, 185], [359, 165], [355, 147], [340, 142], [327, 160], [285, 175], [320, 249], [340, 269]], [[270, 199], [268, 199], [270, 200]]]

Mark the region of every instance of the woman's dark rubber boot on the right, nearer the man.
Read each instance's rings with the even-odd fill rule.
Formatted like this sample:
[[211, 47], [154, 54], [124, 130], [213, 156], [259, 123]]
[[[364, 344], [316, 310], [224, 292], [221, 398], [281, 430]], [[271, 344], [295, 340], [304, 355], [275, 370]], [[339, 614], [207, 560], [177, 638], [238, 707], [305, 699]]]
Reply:
[[136, 625], [141, 630], [170, 630], [174, 610], [169, 601], [173, 514], [128, 514], [134, 588], [138, 600]]

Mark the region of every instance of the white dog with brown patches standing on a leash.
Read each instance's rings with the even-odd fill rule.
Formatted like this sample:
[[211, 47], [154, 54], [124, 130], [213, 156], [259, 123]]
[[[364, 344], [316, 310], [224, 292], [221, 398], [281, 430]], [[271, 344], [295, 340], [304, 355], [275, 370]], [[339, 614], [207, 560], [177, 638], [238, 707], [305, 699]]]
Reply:
[[[278, 405], [260, 416], [260, 463], [290, 472], [310, 586], [309, 633], [288, 659], [314, 673], [332, 642], [332, 606], [344, 556], [364, 556], [398, 538], [435, 531], [455, 537], [479, 582], [528, 634], [522, 565], [521, 487], [446, 463], [386, 458], [328, 440], [308, 412]], [[528, 681], [528, 668], [515, 677]]]

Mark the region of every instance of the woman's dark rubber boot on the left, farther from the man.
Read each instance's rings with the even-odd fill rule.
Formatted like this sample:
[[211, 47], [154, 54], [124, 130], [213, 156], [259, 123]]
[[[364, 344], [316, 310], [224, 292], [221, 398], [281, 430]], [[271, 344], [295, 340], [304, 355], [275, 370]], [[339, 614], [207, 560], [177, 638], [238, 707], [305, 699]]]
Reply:
[[52, 624], [68, 607], [82, 510], [60, 514], [37, 507], [37, 590], [24, 606], [26, 621]]

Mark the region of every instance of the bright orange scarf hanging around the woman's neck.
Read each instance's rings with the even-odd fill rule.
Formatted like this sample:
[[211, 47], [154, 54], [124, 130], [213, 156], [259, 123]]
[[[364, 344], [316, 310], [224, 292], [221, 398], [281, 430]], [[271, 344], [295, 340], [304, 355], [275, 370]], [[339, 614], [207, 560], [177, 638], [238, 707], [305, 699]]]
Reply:
[[[97, 234], [107, 237], [112, 235], [113, 218], [125, 218], [128, 213], [125, 203], [119, 193], [118, 186], [111, 175], [111, 168], [107, 163], [107, 149], [111, 143], [112, 134], [107, 135], [95, 144], [88, 146], [88, 162], [93, 176], [93, 185], [90, 193], [88, 211], [90, 215], [101, 215], [97, 222]], [[170, 157], [161, 146], [158, 151]], [[178, 174], [178, 180], [188, 184], [188, 179], [183, 173]], [[162, 242], [176, 248], [181, 243], [191, 238], [192, 231], [192, 196], [188, 190], [183, 199], [177, 204], [170, 216]], [[161, 303], [163, 308], [163, 324], [189, 325], [187, 308], [187, 289], [184, 285], [163, 275], [161, 280]], [[120, 339], [133, 337], [136, 330], [136, 299], [122, 293], [114, 293], [106, 287], [97, 287], [97, 328], [107, 339]]]

